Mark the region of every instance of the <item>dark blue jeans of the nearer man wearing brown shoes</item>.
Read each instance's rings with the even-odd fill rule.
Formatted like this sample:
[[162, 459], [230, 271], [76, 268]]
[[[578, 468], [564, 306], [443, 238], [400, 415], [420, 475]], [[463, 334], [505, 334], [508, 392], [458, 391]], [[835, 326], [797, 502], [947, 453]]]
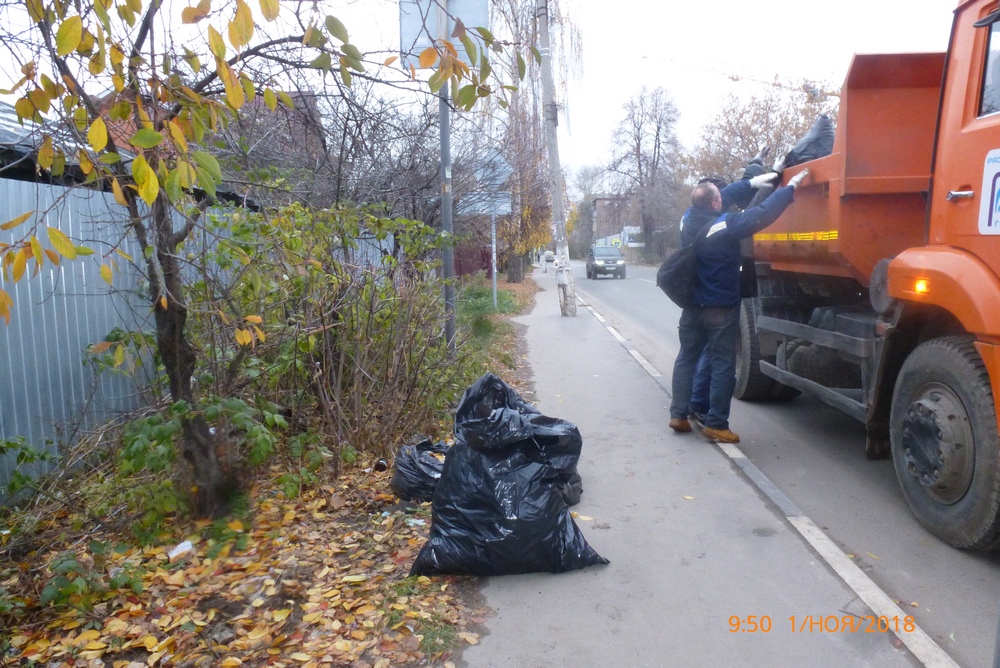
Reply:
[[695, 369], [704, 351], [712, 377], [705, 426], [728, 429], [729, 405], [736, 387], [736, 349], [740, 342], [739, 305], [686, 308], [681, 312], [677, 329], [681, 350], [674, 361], [670, 417], [687, 418]]

